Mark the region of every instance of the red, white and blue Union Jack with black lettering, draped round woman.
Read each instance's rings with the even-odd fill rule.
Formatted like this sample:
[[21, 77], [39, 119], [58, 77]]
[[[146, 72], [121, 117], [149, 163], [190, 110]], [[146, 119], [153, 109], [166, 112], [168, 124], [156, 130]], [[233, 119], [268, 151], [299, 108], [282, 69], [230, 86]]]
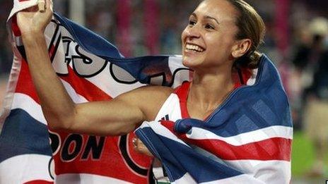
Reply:
[[[0, 183], [147, 183], [151, 158], [133, 152], [133, 133], [99, 137], [47, 129], [15, 18], [36, 4], [15, 0], [8, 18], [14, 59], [0, 118]], [[45, 36], [54, 70], [76, 103], [110, 100], [144, 84], [177, 87], [189, 80], [180, 56], [125, 59], [102, 37], [57, 14]], [[291, 178], [289, 104], [266, 56], [252, 85], [230, 94], [206, 122], [144, 123], [136, 133], [171, 182], [289, 183]]]

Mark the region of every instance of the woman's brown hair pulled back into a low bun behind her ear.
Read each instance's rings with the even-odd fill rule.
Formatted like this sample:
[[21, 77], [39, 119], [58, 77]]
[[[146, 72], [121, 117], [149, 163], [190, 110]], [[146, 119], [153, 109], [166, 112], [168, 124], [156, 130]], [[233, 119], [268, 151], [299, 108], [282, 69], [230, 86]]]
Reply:
[[262, 44], [265, 35], [265, 25], [255, 9], [243, 0], [226, 0], [232, 4], [239, 12], [236, 18], [236, 25], [238, 33], [236, 39], [251, 39], [252, 47], [244, 56], [238, 58], [234, 66], [242, 68], [257, 68], [259, 58], [262, 54], [257, 51], [260, 44]]

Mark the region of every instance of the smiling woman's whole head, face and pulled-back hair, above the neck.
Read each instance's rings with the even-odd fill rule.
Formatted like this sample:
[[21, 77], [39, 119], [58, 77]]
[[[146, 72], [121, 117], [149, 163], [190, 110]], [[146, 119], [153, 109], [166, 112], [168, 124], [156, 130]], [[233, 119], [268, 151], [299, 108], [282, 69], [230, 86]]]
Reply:
[[[233, 7], [230, 6], [231, 4]], [[218, 6], [222, 9], [215, 10]], [[211, 9], [212, 11], [210, 11]], [[201, 26], [202, 29], [197, 30], [197, 26]], [[262, 18], [245, 1], [203, 3], [192, 13], [189, 18], [189, 26], [182, 32], [185, 65], [189, 66], [188, 59], [191, 58], [188, 56], [192, 56], [188, 52], [192, 52], [192, 50], [203, 52], [206, 47], [215, 47], [211, 49], [213, 51], [212, 56], [207, 54], [207, 57], [213, 57], [212, 60], [229, 61], [237, 58], [234, 63], [235, 66], [256, 68], [260, 56], [257, 48], [263, 42], [264, 32], [265, 26]], [[198, 41], [199, 43], [193, 42], [194, 38], [199, 37], [200, 34], [202, 34], [201, 41]], [[223, 45], [232, 43], [234, 39], [239, 41], [239, 45]], [[233, 46], [235, 48], [232, 48]], [[236, 52], [236, 50], [231, 52], [231, 49], [236, 49], [236, 47], [242, 49], [240, 50], [241, 53]], [[243, 53], [245, 50], [246, 53]], [[219, 53], [227, 55], [219, 58]], [[230, 58], [229, 54], [234, 54], [234, 58]], [[201, 59], [198, 56], [197, 58]]]

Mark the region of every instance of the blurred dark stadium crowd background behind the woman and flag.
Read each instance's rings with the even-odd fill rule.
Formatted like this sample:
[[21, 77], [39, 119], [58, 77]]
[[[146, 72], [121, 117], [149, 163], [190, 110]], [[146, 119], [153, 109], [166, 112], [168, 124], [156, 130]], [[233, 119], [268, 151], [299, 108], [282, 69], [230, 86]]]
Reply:
[[[292, 183], [328, 179], [328, 1], [246, 0], [266, 23], [260, 51], [276, 63], [292, 106]], [[12, 54], [0, 0], [0, 99]], [[198, 0], [55, 0], [54, 9], [119, 47], [124, 56], [180, 54], [180, 34]], [[1, 105], [1, 103], [0, 103]]]

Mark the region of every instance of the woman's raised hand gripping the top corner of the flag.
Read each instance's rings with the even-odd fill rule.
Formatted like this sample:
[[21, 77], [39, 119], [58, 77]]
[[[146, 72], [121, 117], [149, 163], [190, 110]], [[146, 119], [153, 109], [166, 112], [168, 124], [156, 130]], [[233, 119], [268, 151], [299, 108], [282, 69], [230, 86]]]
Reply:
[[45, 32], [45, 27], [52, 19], [52, 1], [45, 1], [45, 11], [41, 12], [37, 6], [33, 6], [17, 13], [17, 24], [22, 35]]

